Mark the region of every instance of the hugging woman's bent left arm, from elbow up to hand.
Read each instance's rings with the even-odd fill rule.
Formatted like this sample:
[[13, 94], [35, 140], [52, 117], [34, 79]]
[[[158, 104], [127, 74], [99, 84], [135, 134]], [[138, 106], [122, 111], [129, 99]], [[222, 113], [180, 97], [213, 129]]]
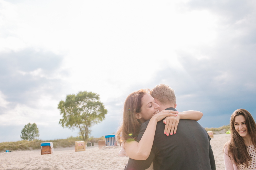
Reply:
[[146, 160], [148, 156], [150, 155], [151, 148], [154, 141], [155, 131], [156, 131], [156, 124], [158, 120], [164, 119], [166, 116], [176, 116], [178, 112], [170, 110], [163, 110], [157, 114], [155, 114], [149, 121], [147, 128], [140, 140], [140, 142], [137, 141], [131, 141], [131, 142], [125, 142], [124, 143], [124, 150], [126, 151], [126, 154], [135, 160]]

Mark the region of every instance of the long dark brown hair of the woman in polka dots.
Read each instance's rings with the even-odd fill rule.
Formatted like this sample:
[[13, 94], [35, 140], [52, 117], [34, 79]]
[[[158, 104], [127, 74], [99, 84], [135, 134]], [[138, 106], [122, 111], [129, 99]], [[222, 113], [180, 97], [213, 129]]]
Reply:
[[[255, 121], [250, 114], [245, 109], [237, 109], [233, 112], [230, 117], [230, 140], [225, 144], [228, 147], [228, 156], [236, 165], [244, 164], [248, 167], [250, 165], [251, 156], [247, 152], [246, 144], [243, 141], [243, 138], [237, 133], [234, 121], [235, 117], [242, 115], [246, 122], [247, 133], [251, 137], [252, 144], [256, 147], [256, 124]], [[230, 157], [231, 155], [231, 157]]]

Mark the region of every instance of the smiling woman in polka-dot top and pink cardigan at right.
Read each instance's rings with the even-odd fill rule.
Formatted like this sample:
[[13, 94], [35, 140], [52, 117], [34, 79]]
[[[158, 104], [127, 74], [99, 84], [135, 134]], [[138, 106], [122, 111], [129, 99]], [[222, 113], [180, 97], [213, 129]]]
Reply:
[[234, 111], [230, 131], [230, 140], [224, 145], [225, 169], [256, 169], [256, 123], [250, 112]]

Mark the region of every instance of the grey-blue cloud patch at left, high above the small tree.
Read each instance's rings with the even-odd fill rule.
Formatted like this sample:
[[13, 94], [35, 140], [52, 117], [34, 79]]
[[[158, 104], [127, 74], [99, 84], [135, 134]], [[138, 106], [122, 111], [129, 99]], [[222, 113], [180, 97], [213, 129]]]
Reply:
[[58, 94], [67, 75], [60, 68], [62, 59], [33, 49], [0, 53], [0, 90], [6, 100], [28, 104], [41, 96]]

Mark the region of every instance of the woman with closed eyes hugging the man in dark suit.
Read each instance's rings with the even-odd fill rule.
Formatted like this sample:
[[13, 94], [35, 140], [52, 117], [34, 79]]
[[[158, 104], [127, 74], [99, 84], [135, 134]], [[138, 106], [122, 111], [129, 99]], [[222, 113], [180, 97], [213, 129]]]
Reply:
[[[155, 103], [154, 98], [146, 90], [141, 89], [131, 93], [125, 100], [123, 123], [117, 132], [117, 137], [123, 148], [119, 156], [146, 160], [153, 145], [156, 124], [166, 116], [175, 116], [178, 123], [179, 119], [200, 120], [202, 113], [199, 111], [177, 112], [172, 110], [159, 112], [158, 104]], [[141, 140], [137, 142], [136, 137], [139, 133], [140, 125], [147, 120], [150, 120], [147, 128]]]

